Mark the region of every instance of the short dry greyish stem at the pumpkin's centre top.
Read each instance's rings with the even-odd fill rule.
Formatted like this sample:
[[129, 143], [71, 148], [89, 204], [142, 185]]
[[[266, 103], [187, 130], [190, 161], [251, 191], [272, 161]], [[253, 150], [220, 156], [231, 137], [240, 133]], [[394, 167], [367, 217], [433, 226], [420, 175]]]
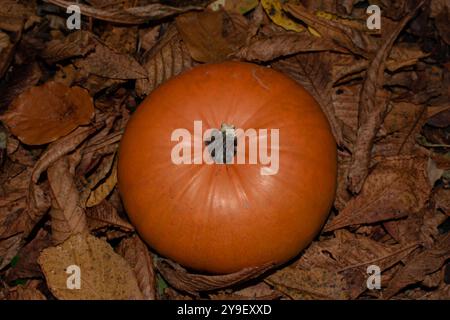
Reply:
[[214, 129], [209, 140], [205, 141], [215, 163], [232, 163], [236, 155], [237, 138], [233, 125], [222, 123], [220, 130]]

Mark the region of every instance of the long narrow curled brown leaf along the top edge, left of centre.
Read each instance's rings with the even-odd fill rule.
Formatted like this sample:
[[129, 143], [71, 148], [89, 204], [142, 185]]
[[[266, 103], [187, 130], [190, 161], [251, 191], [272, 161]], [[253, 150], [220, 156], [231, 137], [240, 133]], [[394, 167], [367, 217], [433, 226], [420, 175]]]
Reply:
[[[68, 8], [72, 2], [65, 0], [44, 0], [45, 2]], [[171, 7], [159, 3], [153, 3], [141, 7], [118, 8], [118, 9], [97, 9], [82, 3], [77, 3], [81, 9], [81, 14], [95, 19], [121, 23], [121, 24], [141, 24], [151, 20], [160, 20], [175, 14], [190, 10], [202, 9], [197, 6], [186, 6], [183, 8]]]

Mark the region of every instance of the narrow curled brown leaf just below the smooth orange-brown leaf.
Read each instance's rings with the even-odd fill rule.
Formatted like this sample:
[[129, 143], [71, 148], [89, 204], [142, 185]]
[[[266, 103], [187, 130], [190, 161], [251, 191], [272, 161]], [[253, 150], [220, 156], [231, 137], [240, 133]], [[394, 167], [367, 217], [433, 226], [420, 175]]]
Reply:
[[32, 181], [37, 183], [42, 172], [47, 170], [55, 161], [75, 150], [88, 136], [94, 133], [101, 125], [80, 127], [69, 135], [52, 143], [41, 155], [33, 168]]

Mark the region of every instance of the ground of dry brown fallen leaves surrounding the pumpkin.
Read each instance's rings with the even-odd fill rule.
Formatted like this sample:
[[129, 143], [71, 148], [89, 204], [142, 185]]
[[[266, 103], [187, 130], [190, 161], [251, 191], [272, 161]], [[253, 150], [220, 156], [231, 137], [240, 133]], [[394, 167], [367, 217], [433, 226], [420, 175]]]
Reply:
[[[79, 2], [81, 30], [68, 30], [69, 1], [0, 1], [0, 298], [450, 298], [448, 1]], [[224, 60], [280, 70], [316, 98], [339, 181], [293, 261], [210, 276], [140, 240], [116, 153], [146, 95]], [[367, 289], [370, 265], [381, 289]]]

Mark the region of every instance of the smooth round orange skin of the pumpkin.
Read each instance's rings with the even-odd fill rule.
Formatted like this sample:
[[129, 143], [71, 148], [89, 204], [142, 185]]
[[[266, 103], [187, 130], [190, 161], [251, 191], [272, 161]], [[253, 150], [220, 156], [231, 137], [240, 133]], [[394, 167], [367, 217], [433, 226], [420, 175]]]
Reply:
[[[195, 120], [203, 130], [278, 128], [278, 173], [261, 175], [261, 164], [174, 164], [171, 134], [193, 133]], [[118, 184], [152, 248], [185, 267], [225, 274], [283, 263], [313, 240], [334, 200], [336, 157], [326, 117], [294, 80], [250, 63], [207, 64], [161, 85], [132, 115]]]

